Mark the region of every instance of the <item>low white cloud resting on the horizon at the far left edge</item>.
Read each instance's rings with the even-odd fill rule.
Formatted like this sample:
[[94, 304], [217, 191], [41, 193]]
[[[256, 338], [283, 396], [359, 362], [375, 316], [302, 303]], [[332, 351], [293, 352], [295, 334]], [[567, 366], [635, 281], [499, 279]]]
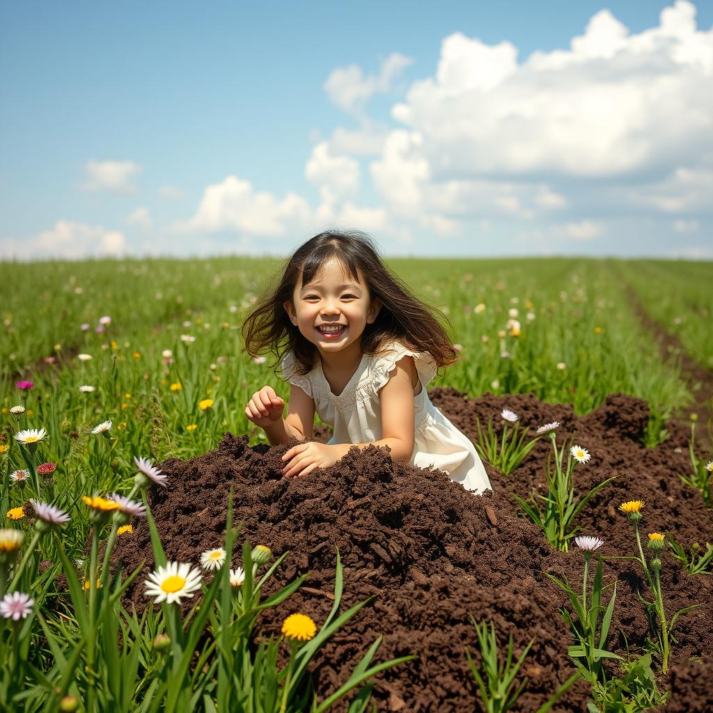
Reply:
[[44, 230], [33, 237], [0, 240], [0, 256], [18, 260], [119, 257], [125, 252], [126, 239], [123, 233], [71, 220], [58, 220], [51, 230]]

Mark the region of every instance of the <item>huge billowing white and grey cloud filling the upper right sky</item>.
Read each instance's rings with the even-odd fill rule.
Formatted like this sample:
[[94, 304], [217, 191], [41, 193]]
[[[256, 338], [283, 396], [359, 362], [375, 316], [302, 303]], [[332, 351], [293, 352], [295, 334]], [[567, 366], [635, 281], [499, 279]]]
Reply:
[[632, 34], [602, 10], [568, 49], [524, 59], [451, 34], [392, 107], [401, 127], [371, 161], [374, 188], [441, 235], [485, 217], [595, 241], [597, 212], [713, 212], [713, 30], [695, 13], [677, 0]]

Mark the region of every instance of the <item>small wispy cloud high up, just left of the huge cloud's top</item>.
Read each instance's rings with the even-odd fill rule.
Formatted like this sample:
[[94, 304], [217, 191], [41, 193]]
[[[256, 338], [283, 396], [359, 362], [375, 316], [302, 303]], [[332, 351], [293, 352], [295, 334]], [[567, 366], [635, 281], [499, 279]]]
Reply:
[[359, 115], [374, 94], [389, 93], [413, 61], [410, 57], [392, 52], [381, 63], [378, 74], [364, 75], [356, 64], [334, 68], [324, 82], [324, 91], [339, 108]]

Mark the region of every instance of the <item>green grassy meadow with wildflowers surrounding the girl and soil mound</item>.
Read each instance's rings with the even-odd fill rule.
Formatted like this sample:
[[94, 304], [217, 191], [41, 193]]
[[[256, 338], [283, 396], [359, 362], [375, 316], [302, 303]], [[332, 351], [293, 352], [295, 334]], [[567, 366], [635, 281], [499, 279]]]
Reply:
[[[677, 337], [694, 361], [712, 369], [713, 304], [707, 289], [713, 277], [711, 263], [565, 258], [387, 262], [419, 297], [441, 312], [458, 349], [458, 362], [431, 387], [450, 387], [476, 400], [488, 394], [493, 404], [505, 404], [510, 394], [531, 394], [543, 404], [569, 405], [573, 423], [603, 408], [611, 394], [626, 394], [647, 402], [637, 448], [668, 452], [656, 449], [673, 444], [682, 423], [688, 432], [696, 384], [684, 378], [675, 355], [662, 355], [660, 344], [642, 324], [637, 304]], [[160, 481], [156, 466], [168, 459], [185, 461], [209, 453], [227, 431], [249, 436], [250, 446], [265, 444], [262, 431], [245, 418], [247, 399], [265, 384], [275, 386], [285, 399], [289, 389], [273, 373], [275, 355], [253, 358], [244, 352], [240, 326], [277, 270], [279, 261], [238, 257], [0, 265], [5, 286], [0, 332], [0, 513], [5, 528], [0, 536], [0, 596], [9, 597], [0, 624], [0, 652], [8, 662], [0, 678], [2, 707], [267, 712], [326, 710], [338, 700], [346, 706], [344, 700], [352, 697], [349, 712], [355, 713], [370, 705], [372, 677], [408, 664], [408, 652], [398, 651], [388, 662], [374, 662], [375, 655], [379, 661], [376, 644], [352, 664], [341, 688], [332, 687], [328, 695], [319, 689], [313, 692], [310, 661], [365, 606], [361, 602], [346, 612], [339, 610], [342, 588], [349, 587], [349, 570], [342, 580], [337, 559], [330, 580], [333, 607], [318, 622], [319, 632], [310, 628], [312, 619], [300, 615], [292, 626], [285, 620], [275, 637], [258, 637], [256, 644], [251, 637], [262, 612], [282, 605], [304, 580], [302, 575], [292, 583], [280, 580], [279, 568], [287, 561], [287, 552], [279, 550], [273, 557], [270, 548], [277, 553], [275, 543], [250, 543], [243, 538], [242, 530], [232, 526], [240, 520], [232, 520], [228, 496], [220, 511], [221, 517], [227, 513], [227, 528], [222, 539], [212, 538], [215, 547], [206, 551], [214, 553], [213, 559], [207, 556], [203, 564], [215, 578], [211, 581], [205, 575], [202, 604], [188, 610], [186, 602], [194, 604], [200, 593], [199, 570], [170, 569], [161, 527], [151, 515], [163, 503], [152, 499]], [[696, 416], [699, 433], [710, 429], [710, 411]], [[494, 426], [491, 421], [490, 436], [485, 417], [482, 424], [478, 421], [478, 431], [471, 429], [468, 435], [478, 439], [490, 466], [514, 478], [520, 462], [511, 457], [512, 468], [506, 468], [505, 451], [509, 448], [509, 456], [518, 456], [523, 443], [508, 441], [508, 424], [496, 421]], [[44, 433], [28, 429], [44, 429]], [[575, 453], [568, 455], [561, 441], [558, 450], [554, 437], [552, 453], [549, 441], [543, 436], [533, 456], [539, 453], [540, 479], [550, 494], [545, 506], [554, 513], [551, 518], [563, 520], [567, 493], [572, 501], [574, 468], [582, 461]], [[711, 456], [695, 440], [683, 445], [676, 441], [676, 447], [691, 460], [693, 473], [688, 473], [690, 483], [684, 486], [702, 503], [702, 517], [707, 518]], [[526, 465], [523, 458], [528, 453], [520, 455]], [[137, 463], [135, 458], [148, 460]], [[47, 463], [51, 465], [43, 468]], [[596, 504], [597, 488], [604, 487], [604, 481], [602, 476], [592, 483], [596, 492], [584, 502], [580, 493], [580, 510], [586, 511], [590, 497]], [[113, 498], [112, 493], [119, 496]], [[636, 502], [636, 493], [631, 494]], [[517, 519], [538, 525], [526, 495], [520, 491]], [[188, 491], [185, 496], [191, 497]], [[560, 496], [565, 501], [557, 515], [555, 501]], [[63, 523], [58, 511], [38, 508], [31, 499], [51, 504], [71, 519]], [[565, 533], [563, 525], [557, 535], [550, 527], [554, 519], [546, 523], [544, 519], [543, 515], [540, 529], [545, 543], [560, 552], [573, 545], [573, 528]], [[111, 553], [117, 543], [126, 547], [131, 525], [145, 528], [149, 549], [137, 560], [133, 573], [122, 573], [110, 566]], [[709, 530], [700, 536], [713, 540]], [[674, 544], [678, 543], [674, 540]], [[589, 564], [596, 548], [582, 549], [589, 552]], [[642, 568], [650, 575], [652, 565], [647, 565], [641, 546], [639, 553]], [[681, 556], [698, 562], [704, 573], [713, 571], [713, 548], [702, 563], [694, 560], [692, 552]], [[154, 580], [159, 591], [165, 594], [161, 583], [174, 578], [188, 588], [186, 594], [193, 583], [195, 596], [187, 598], [183, 607], [172, 597], [164, 596], [162, 602], [158, 595], [160, 608], [145, 607], [140, 612], [124, 608], [124, 595], [133, 591], [134, 583], [140, 583], [145, 597], [144, 575], [139, 577], [139, 572], [146, 558], [153, 558], [157, 568]], [[236, 563], [231, 570], [230, 564]], [[594, 571], [594, 560], [591, 566]], [[607, 620], [603, 603], [588, 614], [586, 571], [585, 601], [580, 601], [579, 612], [583, 641], [594, 632], [602, 635], [600, 615]], [[597, 576], [600, 589], [597, 593], [595, 578], [592, 595], [598, 602], [601, 573]], [[273, 580], [282, 588], [271, 588]], [[665, 593], [657, 583], [658, 574], [656, 581], [650, 575], [648, 584], [658, 604]], [[14, 603], [12, 593], [16, 593]], [[176, 602], [180, 594], [179, 589]], [[575, 611], [577, 597], [571, 592]], [[597, 646], [588, 649], [584, 641], [578, 644], [581, 652], [570, 651], [578, 662], [573, 675], [590, 683], [596, 701], [592, 705], [599, 706], [595, 709], [634, 711], [665, 702], [670, 641], [661, 630], [672, 612], [662, 613], [663, 609], [662, 603], [652, 613], [661, 636], [658, 648], [649, 651], [653, 659], [647, 664], [647, 670], [657, 676], [658, 697], [650, 691], [648, 697], [641, 694], [637, 707], [612, 703], [611, 682], [625, 676], [602, 666], [602, 658], [607, 658], [602, 654], [606, 635]], [[503, 701], [514, 691], [503, 684], [502, 666], [511, 667], [513, 680], [517, 669], [512, 670], [512, 656], [503, 664], [507, 636], [503, 640], [498, 635], [498, 658], [496, 640], [483, 627], [477, 630], [478, 637], [473, 630], [470, 648], [479, 652], [479, 658], [471, 682], [474, 689], [478, 684], [483, 709], [505, 710]], [[576, 622], [572, 628], [577, 629]], [[641, 660], [637, 661], [644, 671]], [[574, 682], [575, 678], [567, 688]], [[498, 686], [504, 699], [494, 694]], [[561, 695], [567, 688], [563, 684]], [[236, 690], [241, 692], [241, 702], [229, 704]], [[515, 709], [517, 698], [513, 698]], [[500, 700], [501, 707], [488, 707], [488, 700]], [[538, 707], [548, 709], [544, 706], [541, 699]]]

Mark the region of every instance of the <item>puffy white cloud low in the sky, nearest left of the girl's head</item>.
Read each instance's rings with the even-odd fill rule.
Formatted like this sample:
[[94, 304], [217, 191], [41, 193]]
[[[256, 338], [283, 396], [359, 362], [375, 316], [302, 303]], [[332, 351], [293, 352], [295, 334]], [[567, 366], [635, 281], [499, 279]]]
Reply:
[[250, 181], [229, 175], [207, 186], [195, 215], [173, 226], [176, 232], [238, 230], [248, 235], [275, 237], [301, 231], [312, 220], [307, 201], [295, 193], [278, 200], [256, 191]]

